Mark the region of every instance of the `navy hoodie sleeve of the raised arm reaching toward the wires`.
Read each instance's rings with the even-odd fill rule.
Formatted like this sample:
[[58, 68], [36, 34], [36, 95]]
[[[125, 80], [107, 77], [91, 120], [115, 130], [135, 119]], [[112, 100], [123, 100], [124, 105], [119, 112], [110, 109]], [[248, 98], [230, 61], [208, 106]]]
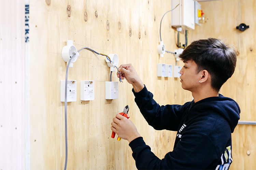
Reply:
[[153, 99], [153, 94], [147, 91], [146, 86], [139, 92], [134, 92], [133, 89], [132, 92], [143, 117], [155, 130], [178, 130], [182, 115], [190, 102], [184, 105], [160, 106]]

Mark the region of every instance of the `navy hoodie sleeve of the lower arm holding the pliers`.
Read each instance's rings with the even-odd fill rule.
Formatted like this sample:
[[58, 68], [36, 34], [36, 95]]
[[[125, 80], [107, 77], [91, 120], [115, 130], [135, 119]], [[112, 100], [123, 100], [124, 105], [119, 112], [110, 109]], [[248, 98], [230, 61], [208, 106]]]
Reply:
[[184, 135], [177, 147], [161, 160], [142, 137], [129, 143], [138, 169], [206, 169], [220, 156], [211, 140], [202, 134]]

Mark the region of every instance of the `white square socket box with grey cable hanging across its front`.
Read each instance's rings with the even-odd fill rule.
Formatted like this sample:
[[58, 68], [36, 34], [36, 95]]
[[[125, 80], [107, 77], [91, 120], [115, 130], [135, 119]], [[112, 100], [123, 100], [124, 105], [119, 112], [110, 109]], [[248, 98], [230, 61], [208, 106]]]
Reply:
[[[60, 101], [65, 102], [65, 80], [60, 81]], [[67, 81], [67, 102], [76, 101], [76, 80]]]

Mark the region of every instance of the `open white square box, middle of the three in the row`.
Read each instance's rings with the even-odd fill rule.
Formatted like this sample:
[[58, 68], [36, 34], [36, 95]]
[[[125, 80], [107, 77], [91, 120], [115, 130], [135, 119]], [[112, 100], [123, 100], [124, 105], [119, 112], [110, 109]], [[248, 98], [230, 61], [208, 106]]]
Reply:
[[80, 82], [81, 101], [94, 100], [94, 81]]

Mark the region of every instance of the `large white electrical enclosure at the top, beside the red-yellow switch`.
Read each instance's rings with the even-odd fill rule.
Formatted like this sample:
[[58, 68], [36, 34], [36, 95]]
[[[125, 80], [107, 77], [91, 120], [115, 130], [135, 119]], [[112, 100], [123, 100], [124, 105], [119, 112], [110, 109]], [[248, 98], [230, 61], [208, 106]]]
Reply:
[[[180, 4], [179, 6], [177, 6]], [[172, 26], [182, 27], [184, 30], [195, 30], [195, 1], [172, 0]]]

